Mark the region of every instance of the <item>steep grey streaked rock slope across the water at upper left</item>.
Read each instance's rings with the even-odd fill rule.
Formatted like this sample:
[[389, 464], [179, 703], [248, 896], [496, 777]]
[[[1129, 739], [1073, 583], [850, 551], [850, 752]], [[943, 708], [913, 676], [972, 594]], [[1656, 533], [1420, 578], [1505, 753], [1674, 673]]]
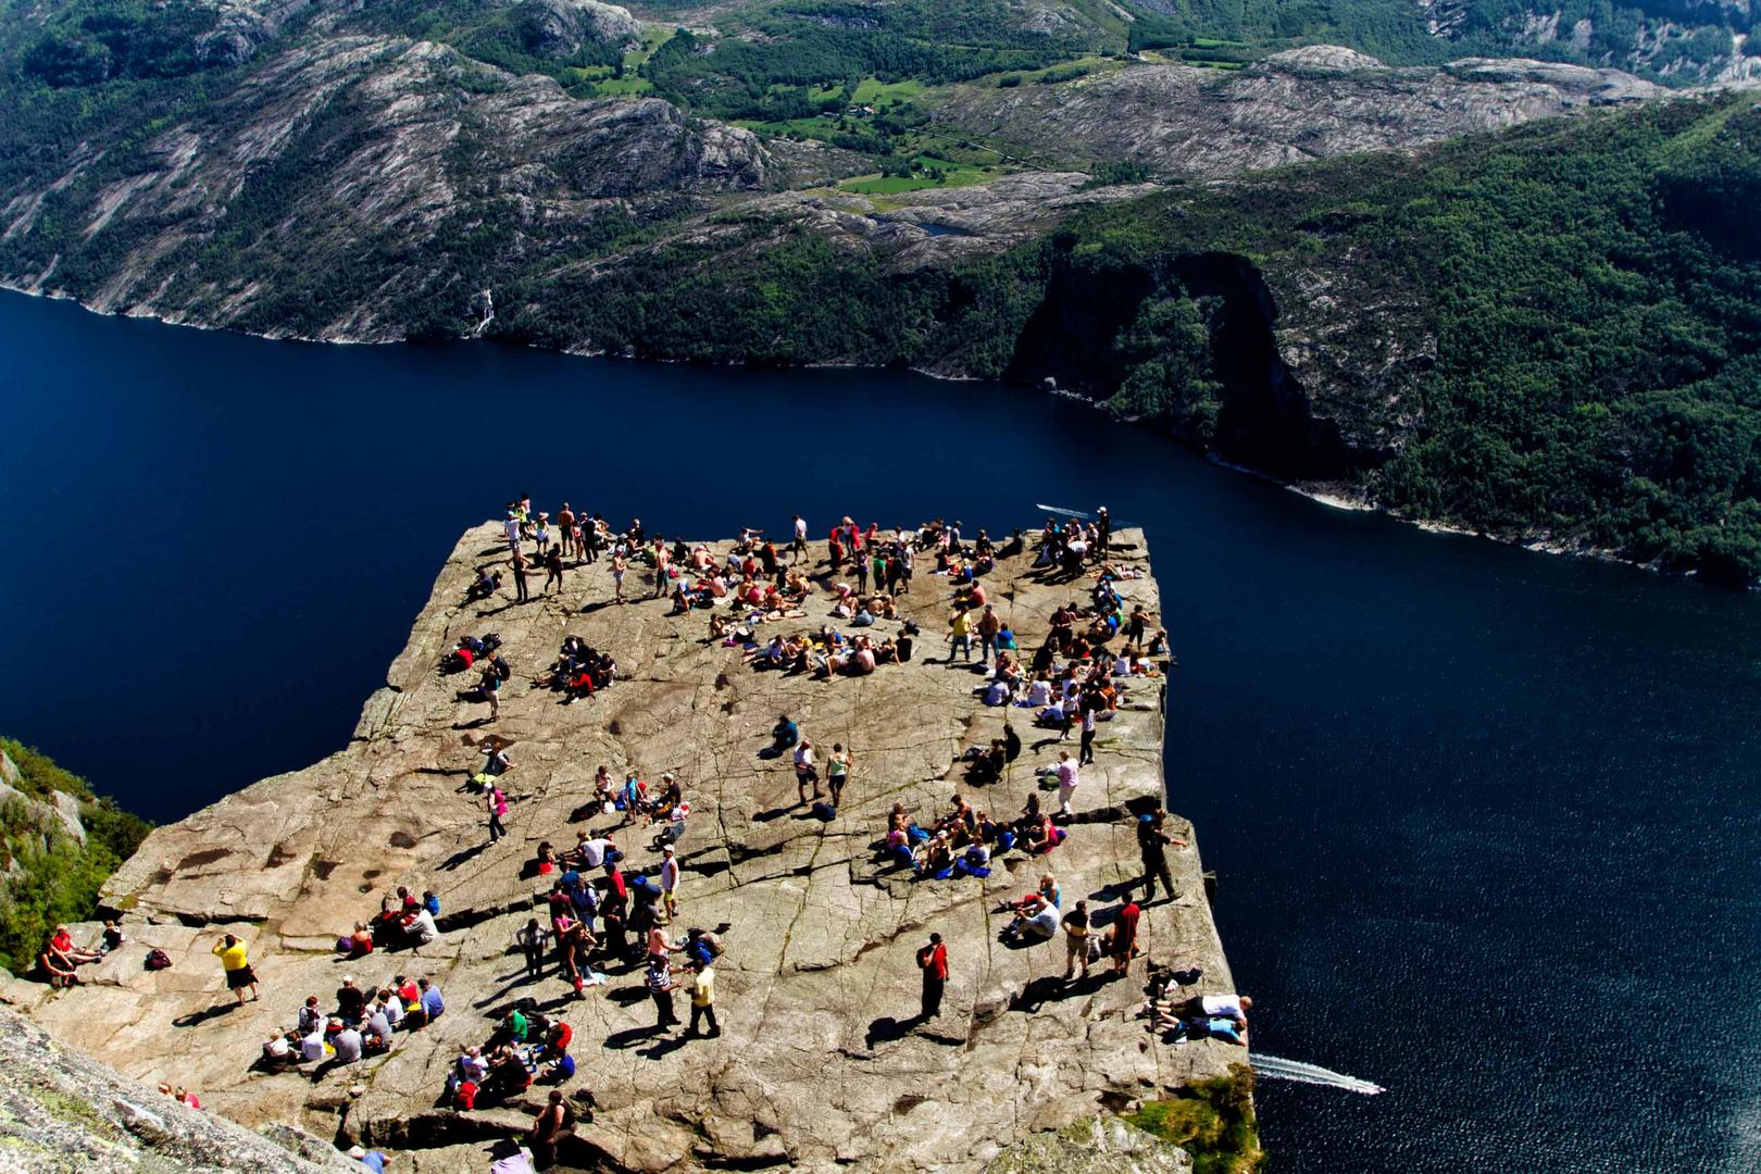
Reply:
[[4, 206], [11, 276], [264, 334], [403, 338], [511, 260], [766, 183], [747, 130], [579, 102], [433, 42], [333, 37], [139, 148], [79, 144]]

